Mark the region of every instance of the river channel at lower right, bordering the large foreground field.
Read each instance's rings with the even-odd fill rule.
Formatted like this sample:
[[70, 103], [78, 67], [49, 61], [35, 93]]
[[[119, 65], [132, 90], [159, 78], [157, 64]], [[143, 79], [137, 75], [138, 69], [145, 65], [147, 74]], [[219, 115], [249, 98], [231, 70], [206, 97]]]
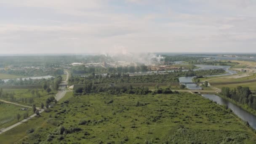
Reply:
[[227, 101], [226, 99], [221, 98], [220, 96], [216, 96], [213, 94], [202, 94], [203, 97], [210, 99], [212, 101], [216, 101], [217, 104], [221, 105], [227, 105], [229, 109], [232, 109], [232, 111], [240, 117], [244, 121], [248, 121], [248, 123], [251, 125], [252, 128], [256, 129], [256, 116], [252, 115], [251, 113], [245, 111], [244, 109], [238, 107], [235, 104], [232, 104], [231, 102]]

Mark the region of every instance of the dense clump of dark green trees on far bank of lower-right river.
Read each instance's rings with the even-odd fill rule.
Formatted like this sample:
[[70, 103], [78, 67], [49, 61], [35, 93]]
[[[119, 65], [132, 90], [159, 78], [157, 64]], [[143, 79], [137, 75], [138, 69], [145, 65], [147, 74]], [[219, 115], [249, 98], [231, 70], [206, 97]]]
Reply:
[[256, 109], [256, 97], [253, 96], [248, 87], [238, 86], [234, 89], [223, 87], [221, 89], [221, 94], [239, 102], [240, 104], [246, 104], [249, 107]]

